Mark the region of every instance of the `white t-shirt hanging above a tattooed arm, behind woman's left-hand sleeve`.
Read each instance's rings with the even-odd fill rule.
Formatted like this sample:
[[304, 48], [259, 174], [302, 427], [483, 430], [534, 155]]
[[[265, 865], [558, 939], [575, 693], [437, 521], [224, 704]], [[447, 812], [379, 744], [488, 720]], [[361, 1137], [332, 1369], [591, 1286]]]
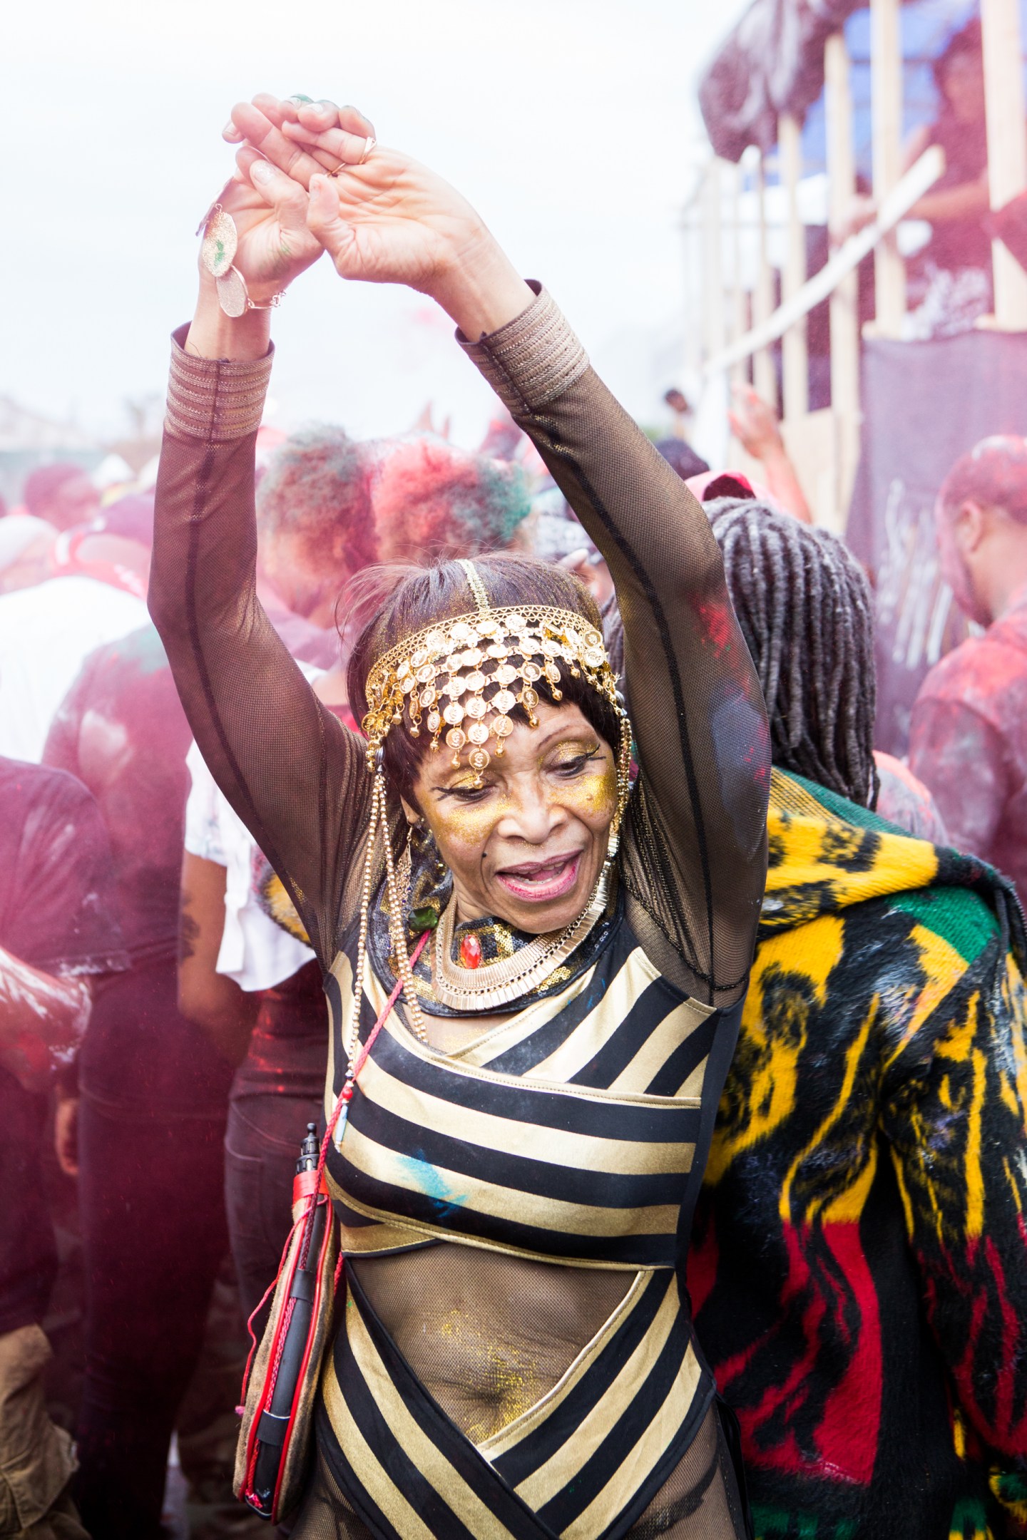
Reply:
[[[303, 668], [303, 673], [316, 676], [320, 670]], [[219, 790], [196, 744], [185, 762], [192, 776], [185, 808], [185, 849], [226, 869], [225, 930], [217, 972], [226, 973], [245, 990], [271, 989], [293, 978], [314, 953], [282, 930], [260, 906], [254, 892], [257, 842]]]

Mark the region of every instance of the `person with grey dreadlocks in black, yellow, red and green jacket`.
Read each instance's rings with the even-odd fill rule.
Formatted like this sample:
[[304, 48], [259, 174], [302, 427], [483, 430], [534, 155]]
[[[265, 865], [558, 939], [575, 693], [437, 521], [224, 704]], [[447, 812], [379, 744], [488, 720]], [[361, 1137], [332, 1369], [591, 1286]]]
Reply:
[[756, 1534], [1021, 1534], [1019, 907], [979, 859], [870, 810], [871, 604], [841, 541], [751, 499], [707, 511], [774, 770], [688, 1284]]

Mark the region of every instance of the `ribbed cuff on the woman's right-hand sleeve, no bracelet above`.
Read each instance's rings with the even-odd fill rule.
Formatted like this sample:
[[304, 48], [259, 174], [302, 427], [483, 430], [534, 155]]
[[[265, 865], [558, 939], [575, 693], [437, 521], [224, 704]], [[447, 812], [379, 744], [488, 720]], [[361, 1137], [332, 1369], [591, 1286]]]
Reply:
[[528, 280], [528, 286], [536, 297], [499, 331], [480, 342], [468, 342], [459, 331], [456, 334], [463, 351], [514, 416], [537, 411], [556, 400], [588, 368], [588, 354], [553, 297], [534, 279]]

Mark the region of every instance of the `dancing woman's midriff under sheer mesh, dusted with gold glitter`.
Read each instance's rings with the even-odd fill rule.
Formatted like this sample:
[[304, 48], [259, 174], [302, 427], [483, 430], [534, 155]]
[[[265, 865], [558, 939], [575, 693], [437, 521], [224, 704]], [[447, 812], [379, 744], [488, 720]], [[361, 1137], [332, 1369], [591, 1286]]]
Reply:
[[634, 1281], [634, 1272], [453, 1241], [350, 1266], [414, 1374], [473, 1443], [551, 1391]]

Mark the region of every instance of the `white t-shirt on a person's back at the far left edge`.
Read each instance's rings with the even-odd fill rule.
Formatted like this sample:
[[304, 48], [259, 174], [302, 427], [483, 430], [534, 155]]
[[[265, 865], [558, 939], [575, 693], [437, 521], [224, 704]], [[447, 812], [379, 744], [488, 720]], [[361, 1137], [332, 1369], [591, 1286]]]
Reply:
[[149, 625], [143, 599], [95, 578], [0, 598], [0, 755], [38, 764], [57, 707], [97, 647]]

